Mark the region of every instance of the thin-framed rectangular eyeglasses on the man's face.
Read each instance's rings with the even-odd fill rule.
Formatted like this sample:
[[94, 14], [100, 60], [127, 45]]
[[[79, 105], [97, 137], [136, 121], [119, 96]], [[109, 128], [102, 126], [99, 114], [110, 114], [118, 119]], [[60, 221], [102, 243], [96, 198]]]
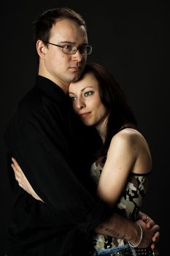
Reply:
[[[46, 42], [46, 43], [49, 45], [55, 45], [52, 42]], [[55, 45], [55, 46], [63, 48], [62, 51], [63, 53], [66, 53], [66, 54], [75, 54], [77, 53], [77, 50], [79, 50], [82, 55], [89, 55], [92, 52], [91, 45], [82, 45], [80, 47], [76, 47], [72, 45], [63, 45], [63, 46]]]

